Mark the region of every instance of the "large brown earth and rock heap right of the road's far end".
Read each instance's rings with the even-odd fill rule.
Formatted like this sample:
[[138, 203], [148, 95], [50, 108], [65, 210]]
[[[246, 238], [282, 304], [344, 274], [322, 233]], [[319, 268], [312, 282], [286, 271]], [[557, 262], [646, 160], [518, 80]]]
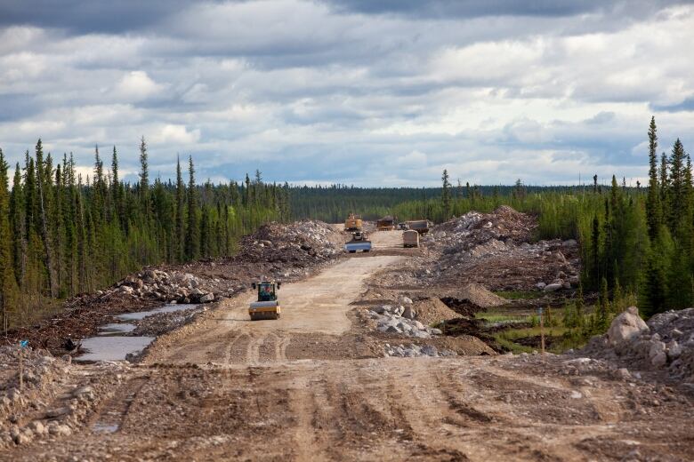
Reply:
[[420, 277], [430, 283], [482, 283], [492, 290], [568, 290], [579, 282], [578, 243], [533, 243], [537, 219], [508, 206], [471, 211], [432, 229], [424, 243], [434, 262]]

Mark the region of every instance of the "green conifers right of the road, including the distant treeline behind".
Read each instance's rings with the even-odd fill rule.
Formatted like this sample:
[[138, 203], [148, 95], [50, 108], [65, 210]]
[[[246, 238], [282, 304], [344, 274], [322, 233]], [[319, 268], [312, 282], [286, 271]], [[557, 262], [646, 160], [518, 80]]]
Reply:
[[[585, 291], [614, 303], [635, 299], [645, 316], [694, 305], [694, 185], [690, 155], [674, 142], [658, 163], [658, 130], [651, 119], [649, 187], [626, 187], [613, 176], [609, 186], [451, 187], [448, 171], [439, 188], [303, 187], [292, 189], [294, 216], [340, 222], [349, 211], [366, 219], [391, 214], [399, 220], [442, 222], [468, 211], [510, 205], [537, 216], [538, 239], [577, 239]], [[601, 308], [599, 324], [609, 315]]]

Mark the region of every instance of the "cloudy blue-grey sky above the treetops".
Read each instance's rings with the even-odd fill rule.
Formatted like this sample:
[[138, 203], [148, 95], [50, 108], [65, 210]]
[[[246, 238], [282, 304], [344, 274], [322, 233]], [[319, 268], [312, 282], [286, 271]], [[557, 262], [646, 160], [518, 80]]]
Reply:
[[694, 4], [0, 0], [0, 147], [135, 181], [634, 185], [694, 145]]

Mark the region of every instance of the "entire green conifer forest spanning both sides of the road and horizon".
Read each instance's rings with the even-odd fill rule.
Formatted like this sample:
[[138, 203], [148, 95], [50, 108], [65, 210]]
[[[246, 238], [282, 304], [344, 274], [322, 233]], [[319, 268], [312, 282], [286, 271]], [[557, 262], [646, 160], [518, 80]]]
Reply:
[[[93, 174], [77, 174], [72, 155], [55, 160], [41, 140], [24, 163], [0, 151], [0, 306], [4, 322], [26, 323], [57, 300], [96, 291], [143, 265], [233, 254], [241, 235], [271, 220], [366, 219], [442, 222], [467, 211], [508, 204], [537, 215], [537, 238], [574, 238], [583, 255], [583, 290], [603, 299], [638, 299], [642, 314], [694, 301], [694, 193], [690, 155], [677, 139], [660, 151], [650, 122], [649, 184], [627, 187], [613, 176], [587, 186], [290, 187], [267, 184], [260, 171], [199, 184], [193, 159], [177, 163], [175, 181], [151, 182], [140, 147], [140, 178], [118, 177], [118, 153], [104, 166], [95, 148]], [[658, 154], [659, 153], [659, 154]]]

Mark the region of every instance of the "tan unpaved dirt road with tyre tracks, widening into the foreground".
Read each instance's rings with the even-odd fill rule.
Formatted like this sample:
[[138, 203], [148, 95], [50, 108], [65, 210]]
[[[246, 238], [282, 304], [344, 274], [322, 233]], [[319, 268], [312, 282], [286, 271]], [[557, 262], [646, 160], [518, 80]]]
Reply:
[[389, 255], [397, 232], [372, 240], [382, 252], [284, 285], [278, 321], [251, 323], [244, 296], [158, 339], [81, 432], [0, 458], [690, 458], [690, 402], [659, 386], [569, 375], [553, 356], [379, 357], [383, 338], [359, 327], [354, 304], [407, 256]]

